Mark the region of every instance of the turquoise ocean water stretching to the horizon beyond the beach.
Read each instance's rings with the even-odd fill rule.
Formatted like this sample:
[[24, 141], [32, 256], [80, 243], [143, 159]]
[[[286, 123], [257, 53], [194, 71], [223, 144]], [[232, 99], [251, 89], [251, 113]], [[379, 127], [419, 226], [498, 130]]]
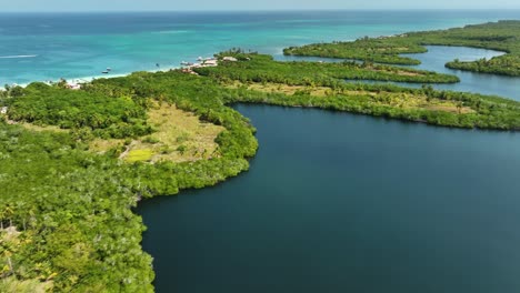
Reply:
[[459, 27], [519, 11], [0, 13], [0, 84], [178, 67], [233, 47], [288, 46]]

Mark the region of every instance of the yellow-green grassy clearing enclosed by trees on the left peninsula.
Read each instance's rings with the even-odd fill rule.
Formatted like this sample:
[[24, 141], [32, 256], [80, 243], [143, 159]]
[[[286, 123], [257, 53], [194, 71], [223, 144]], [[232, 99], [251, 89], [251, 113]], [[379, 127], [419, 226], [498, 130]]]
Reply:
[[[131, 141], [120, 159], [127, 162], [186, 162], [219, 155], [214, 140], [223, 127], [202, 122], [197, 115], [167, 103], [157, 104], [148, 114], [148, 122], [157, 132]], [[90, 149], [106, 152], [123, 144], [123, 140], [98, 139], [92, 141]]]

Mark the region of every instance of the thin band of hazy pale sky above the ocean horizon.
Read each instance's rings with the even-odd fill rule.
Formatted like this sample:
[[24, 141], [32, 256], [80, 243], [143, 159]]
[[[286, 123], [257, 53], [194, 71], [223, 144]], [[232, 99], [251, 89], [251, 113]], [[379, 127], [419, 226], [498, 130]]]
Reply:
[[6, 0], [0, 11], [519, 9], [519, 0]]

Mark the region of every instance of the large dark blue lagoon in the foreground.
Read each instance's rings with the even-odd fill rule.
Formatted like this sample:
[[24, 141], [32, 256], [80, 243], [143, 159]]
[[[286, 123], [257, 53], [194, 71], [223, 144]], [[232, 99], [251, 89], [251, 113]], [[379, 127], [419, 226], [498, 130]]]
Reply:
[[519, 292], [519, 134], [237, 110], [251, 170], [139, 208], [158, 292]]

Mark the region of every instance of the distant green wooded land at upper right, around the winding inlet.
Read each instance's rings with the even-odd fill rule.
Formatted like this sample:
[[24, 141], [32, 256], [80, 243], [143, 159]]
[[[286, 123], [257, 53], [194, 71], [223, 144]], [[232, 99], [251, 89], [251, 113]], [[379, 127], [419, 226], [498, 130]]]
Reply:
[[499, 21], [439, 31], [409, 32], [393, 37], [363, 38], [353, 42], [316, 43], [288, 48], [286, 54], [368, 60], [391, 64], [418, 64], [401, 53], [426, 52], [423, 46], [462, 46], [506, 52], [490, 60], [447, 63], [452, 69], [520, 75], [520, 21]]

